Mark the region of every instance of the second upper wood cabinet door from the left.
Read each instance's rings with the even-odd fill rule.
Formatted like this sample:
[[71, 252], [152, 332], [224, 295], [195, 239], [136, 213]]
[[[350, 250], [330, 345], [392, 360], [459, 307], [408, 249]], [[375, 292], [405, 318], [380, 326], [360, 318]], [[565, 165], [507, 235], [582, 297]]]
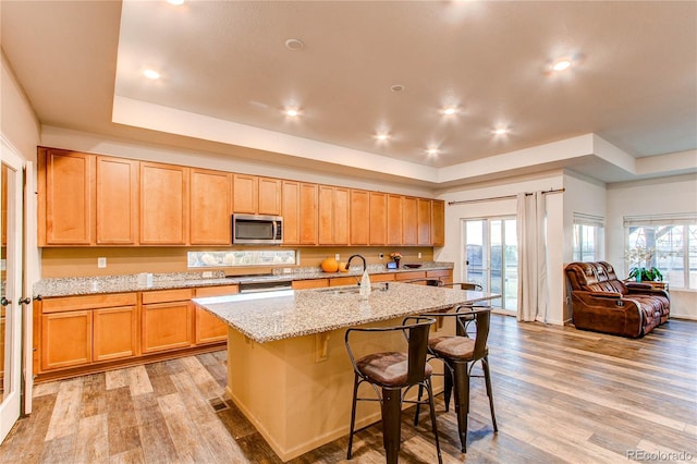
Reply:
[[97, 244], [138, 243], [138, 169], [129, 159], [97, 157]]

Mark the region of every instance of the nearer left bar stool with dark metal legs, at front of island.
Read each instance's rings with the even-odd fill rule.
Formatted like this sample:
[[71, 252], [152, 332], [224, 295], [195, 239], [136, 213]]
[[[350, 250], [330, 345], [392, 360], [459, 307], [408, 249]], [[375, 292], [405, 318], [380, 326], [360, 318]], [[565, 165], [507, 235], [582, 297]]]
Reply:
[[[348, 434], [348, 451], [346, 459], [351, 460], [353, 436], [355, 434], [356, 403], [358, 401], [379, 401], [382, 414], [382, 441], [388, 464], [396, 464], [400, 452], [401, 414], [403, 403], [426, 403], [420, 401], [404, 400], [408, 390], [414, 386], [426, 389], [428, 404], [431, 411], [431, 427], [436, 437], [436, 451], [438, 462], [442, 463], [440, 443], [438, 441], [438, 428], [436, 426], [436, 407], [433, 403], [433, 390], [431, 388], [432, 367], [426, 363], [428, 353], [428, 333], [436, 319], [424, 316], [409, 316], [404, 318], [401, 326], [378, 328], [351, 328], [346, 330], [344, 343], [351, 364], [354, 369], [353, 404], [351, 407], [351, 431]], [[358, 359], [354, 357], [351, 347], [351, 339], [360, 332], [383, 338], [386, 332], [401, 331], [406, 341], [406, 352], [371, 353]], [[354, 339], [354, 342], [357, 341]], [[358, 387], [367, 382], [372, 387], [376, 398], [358, 398]], [[404, 390], [404, 391], [403, 391]]]

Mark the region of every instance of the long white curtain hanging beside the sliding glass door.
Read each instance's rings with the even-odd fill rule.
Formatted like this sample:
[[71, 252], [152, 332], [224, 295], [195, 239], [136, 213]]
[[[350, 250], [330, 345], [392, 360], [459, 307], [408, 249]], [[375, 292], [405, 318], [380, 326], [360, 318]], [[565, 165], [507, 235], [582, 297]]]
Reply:
[[545, 195], [517, 195], [519, 321], [547, 321], [547, 245]]

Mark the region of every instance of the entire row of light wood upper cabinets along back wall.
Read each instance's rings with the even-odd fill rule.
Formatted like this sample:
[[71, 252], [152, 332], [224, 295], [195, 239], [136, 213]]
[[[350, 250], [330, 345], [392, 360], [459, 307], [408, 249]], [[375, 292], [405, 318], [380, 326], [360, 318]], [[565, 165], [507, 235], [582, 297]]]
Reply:
[[282, 216], [285, 245], [444, 244], [440, 200], [53, 148], [38, 155], [39, 246], [225, 246], [235, 212]]

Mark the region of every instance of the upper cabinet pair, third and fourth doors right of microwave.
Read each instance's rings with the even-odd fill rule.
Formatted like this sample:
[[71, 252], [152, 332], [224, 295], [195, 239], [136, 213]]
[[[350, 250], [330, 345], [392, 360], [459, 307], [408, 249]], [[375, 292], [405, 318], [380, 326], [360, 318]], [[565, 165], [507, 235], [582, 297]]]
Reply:
[[320, 245], [348, 244], [348, 188], [319, 185], [318, 243]]

